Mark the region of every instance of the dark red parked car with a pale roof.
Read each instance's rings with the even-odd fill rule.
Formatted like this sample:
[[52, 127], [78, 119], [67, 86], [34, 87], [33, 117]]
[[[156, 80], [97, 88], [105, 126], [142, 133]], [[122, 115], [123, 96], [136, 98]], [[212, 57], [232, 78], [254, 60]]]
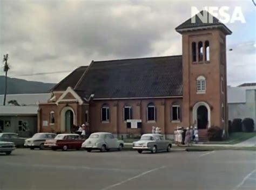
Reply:
[[50, 147], [52, 150], [79, 150], [83, 142], [84, 139], [81, 139], [80, 136], [77, 134], [59, 134], [54, 139], [45, 140], [44, 146]]

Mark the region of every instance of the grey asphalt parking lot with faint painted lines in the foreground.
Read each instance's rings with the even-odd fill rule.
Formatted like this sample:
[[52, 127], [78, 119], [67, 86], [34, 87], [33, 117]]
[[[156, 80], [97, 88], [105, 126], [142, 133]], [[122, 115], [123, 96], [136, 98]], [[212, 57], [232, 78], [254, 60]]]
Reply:
[[86, 152], [17, 149], [0, 155], [0, 189], [218, 189], [256, 187], [256, 152]]

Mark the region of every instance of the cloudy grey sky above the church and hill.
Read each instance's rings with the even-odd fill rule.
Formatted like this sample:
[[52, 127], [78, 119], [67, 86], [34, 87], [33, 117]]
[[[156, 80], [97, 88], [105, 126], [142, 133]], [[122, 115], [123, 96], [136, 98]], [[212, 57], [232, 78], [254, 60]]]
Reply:
[[181, 55], [174, 29], [191, 17], [192, 6], [228, 6], [230, 16], [241, 10], [245, 23], [226, 23], [233, 32], [227, 36], [227, 83], [255, 82], [252, 0], [0, 0], [0, 56], [9, 53], [10, 77], [58, 83], [92, 60]]

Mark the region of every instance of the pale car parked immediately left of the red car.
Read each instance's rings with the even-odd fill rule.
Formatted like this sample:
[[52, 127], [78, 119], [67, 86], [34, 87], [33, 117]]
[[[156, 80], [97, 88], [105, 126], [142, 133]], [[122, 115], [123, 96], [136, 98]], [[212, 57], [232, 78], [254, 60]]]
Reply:
[[24, 146], [29, 147], [31, 150], [39, 148], [40, 150], [44, 149], [44, 142], [47, 139], [53, 139], [56, 137], [55, 133], [49, 132], [39, 132], [33, 135], [32, 138], [25, 140]]

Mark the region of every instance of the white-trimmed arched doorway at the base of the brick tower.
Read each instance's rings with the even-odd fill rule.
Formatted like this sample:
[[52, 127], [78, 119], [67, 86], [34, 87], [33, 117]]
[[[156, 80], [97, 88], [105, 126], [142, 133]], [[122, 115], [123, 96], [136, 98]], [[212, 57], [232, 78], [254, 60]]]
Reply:
[[197, 102], [193, 106], [193, 123], [198, 129], [207, 129], [211, 126], [211, 109], [206, 102]]

